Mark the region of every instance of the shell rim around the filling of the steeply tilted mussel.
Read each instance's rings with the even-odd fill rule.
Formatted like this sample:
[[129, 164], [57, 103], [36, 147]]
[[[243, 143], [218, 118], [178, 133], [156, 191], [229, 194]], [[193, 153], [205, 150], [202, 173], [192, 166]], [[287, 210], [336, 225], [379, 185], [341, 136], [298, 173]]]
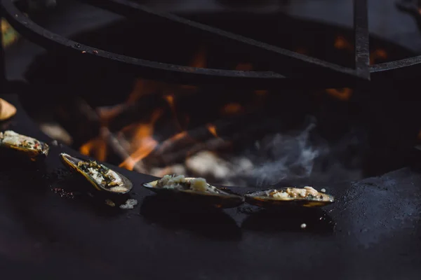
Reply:
[[90, 174], [83, 171], [78, 165], [79, 162], [89, 163], [85, 160], [81, 160], [79, 158], [74, 158], [71, 155], [67, 155], [67, 153], [60, 153], [60, 160], [72, 172], [76, 172], [76, 174], [82, 175], [89, 183], [91, 183], [91, 185], [96, 190], [105, 191], [107, 193], [112, 193], [112, 194], [116, 194], [116, 195], [123, 195], [123, 194], [126, 194], [126, 193], [130, 192], [133, 188], [133, 184], [131, 183], [131, 181], [129, 179], [127, 179], [125, 176], [119, 174], [118, 172], [115, 172], [114, 170], [109, 169], [108, 167], [105, 167], [104, 165], [100, 165], [100, 164], [95, 162], [95, 164], [100, 166], [102, 168], [102, 170], [105, 170], [105, 171], [111, 170], [112, 172], [114, 172], [114, 174], [119, 176], [121, 181], [123, 182], [122, 186], [125, 190], [116, 191], [116, 190], [113, 190], [112, 187], [106, 186], [103, 183], [98, 183], [97, 181], [95, 181], [95, 179]]

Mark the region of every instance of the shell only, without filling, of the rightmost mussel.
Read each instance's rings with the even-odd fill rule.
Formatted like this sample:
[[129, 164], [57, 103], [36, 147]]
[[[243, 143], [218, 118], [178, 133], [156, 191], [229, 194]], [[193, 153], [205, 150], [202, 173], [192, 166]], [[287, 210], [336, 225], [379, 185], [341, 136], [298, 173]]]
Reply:
[[[289, 188], [297, 189], [297, 188]], [[294, 197], [274, 197], [276, 193], [285, 193], [288, 188], [279, 188], [272, 190], [260, 190], [255, 193], [248, 193], [244, 195], [246, 202], [263, 208], [277, 208], [277, 207], [324, 207], [335, 202], [332, 195], [326, 193], [317, 193], [317, 195], [300, 195]], [[299, 189], [305, 190], [305, 189]]]

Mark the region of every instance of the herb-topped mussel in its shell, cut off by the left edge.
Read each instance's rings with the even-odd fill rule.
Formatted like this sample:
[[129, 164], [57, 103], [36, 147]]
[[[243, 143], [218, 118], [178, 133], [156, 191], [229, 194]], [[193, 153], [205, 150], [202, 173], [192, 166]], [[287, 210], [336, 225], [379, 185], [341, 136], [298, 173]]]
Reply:
[[44, 142], [18, 134], [12, 130], [0, 132], [0, 147], [25, 153], [29, 158], [46, 157], [50, 148]]

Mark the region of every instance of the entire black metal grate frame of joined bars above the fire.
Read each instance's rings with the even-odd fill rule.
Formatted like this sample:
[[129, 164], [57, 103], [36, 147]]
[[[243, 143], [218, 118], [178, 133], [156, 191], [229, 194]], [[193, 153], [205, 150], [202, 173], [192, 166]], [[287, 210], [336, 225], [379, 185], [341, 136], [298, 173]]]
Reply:
[[[395, 62], [375, 64], [369, 62], [369, 32], [367, 0], [354, 0], [355, 64], [348, 68], [330, 62], [308, 57], [290, 50], [255, 41], [215, 27], [193, 22], [168, 13], [157, 13], [138, 3], [128, 0], [80, 0], [98, 8], [132, 17], [152, 17], [154, 20], [170, 22], [186, 29], [200, 31], [203, 36], [214, 40], [235, 43], [237, 48], [246, 48], [250, 57], [269, 62], [268, 71], [230, 71], [203, 69], [190, 66], [153, 62], [135, 57], [119, 55], [83, 45], [68, 38], [53, 34], [36, 25], [15, 6], [13, 0], [0, 0], [1, 13], [23, 36], [44, 48], [52, 48], [68, 55], [86, 55], [95, 59], [106, 59], [114, 66], [131, 68], [145, 78], [171, 80], [188, 84], [223, 84], [255, 88], [269, 87], [353, 87], [370, 79], [384, 78], [385, 73], [394, 76], [408, 76], [421, 69], [421, 56], [401, 59]], [[0, 53], [1, 55], [1, 53]], [[4, 78], [4, 63], [1, 77]]]

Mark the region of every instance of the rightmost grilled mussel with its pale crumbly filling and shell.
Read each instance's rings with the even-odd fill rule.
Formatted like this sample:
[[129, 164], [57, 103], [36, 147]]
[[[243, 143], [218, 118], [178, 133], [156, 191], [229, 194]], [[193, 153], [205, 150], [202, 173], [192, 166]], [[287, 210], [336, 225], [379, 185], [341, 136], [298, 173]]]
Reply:
[[259, 207], [323, 207], [335, 202], [332, 195], [312, 187], [261, 190], [244, 195], [246, 202]]

